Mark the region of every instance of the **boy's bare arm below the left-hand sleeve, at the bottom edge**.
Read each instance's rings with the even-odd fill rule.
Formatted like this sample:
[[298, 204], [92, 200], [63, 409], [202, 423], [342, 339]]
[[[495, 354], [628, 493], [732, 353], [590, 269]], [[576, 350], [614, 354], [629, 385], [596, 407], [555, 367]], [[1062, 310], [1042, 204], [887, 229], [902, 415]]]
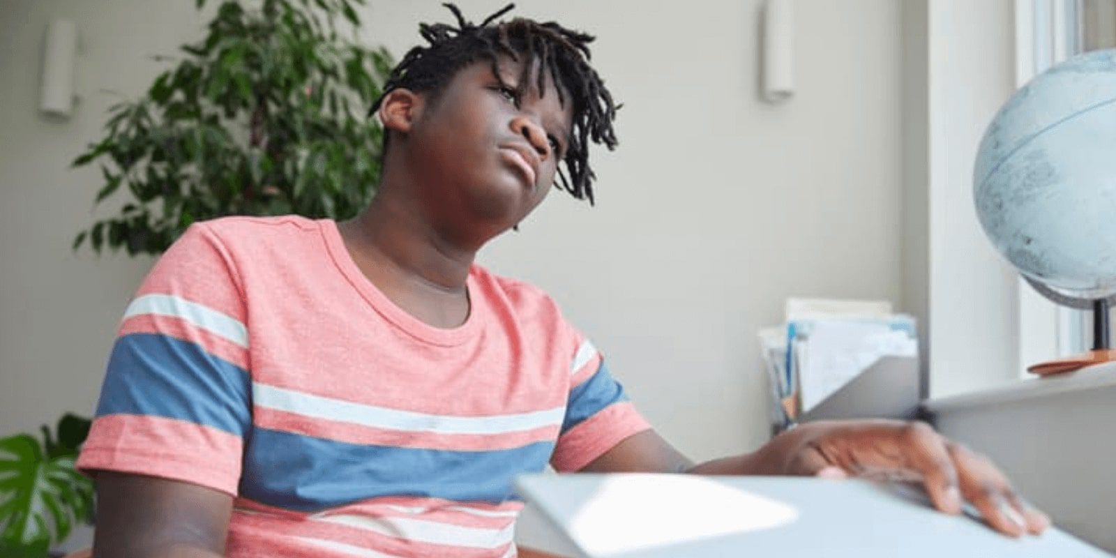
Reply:
[[217, 558], [232, 497], [189, 482], [97, 473], [97, 558]]

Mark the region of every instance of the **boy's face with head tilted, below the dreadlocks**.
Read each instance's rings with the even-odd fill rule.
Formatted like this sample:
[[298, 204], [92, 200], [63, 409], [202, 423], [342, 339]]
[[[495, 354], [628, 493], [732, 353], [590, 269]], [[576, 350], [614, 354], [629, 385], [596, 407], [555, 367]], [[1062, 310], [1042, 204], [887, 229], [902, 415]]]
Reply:
[[[517, 98], [521, 62], [502, 57], [501, 77], [488, 61], [458, 71], [407, 132], [406, 164], [416, 174], [433, 225], [478, 244], [519, 223], [554, 184], [573, 119], [549, 79]], [[565, 92], [564, 92], [565, 94]]]

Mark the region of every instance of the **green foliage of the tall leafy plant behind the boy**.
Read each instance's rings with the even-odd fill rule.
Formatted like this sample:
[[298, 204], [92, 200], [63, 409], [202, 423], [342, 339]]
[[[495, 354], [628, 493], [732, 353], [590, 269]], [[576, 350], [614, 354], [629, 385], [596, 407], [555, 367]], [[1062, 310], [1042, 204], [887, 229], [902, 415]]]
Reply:
[[359, 26], [364, 3], [222, 1], [206, 35], [143, 97], [114, 106], [74, 160], [102, 167], [95, 204], [124, 196], [74, 249], [160, 253], [222, 215], [354, 217], [379, 181], [383, 132], [365, 113], [394, 65], [344, 38], [355, 29], [338, 32]]

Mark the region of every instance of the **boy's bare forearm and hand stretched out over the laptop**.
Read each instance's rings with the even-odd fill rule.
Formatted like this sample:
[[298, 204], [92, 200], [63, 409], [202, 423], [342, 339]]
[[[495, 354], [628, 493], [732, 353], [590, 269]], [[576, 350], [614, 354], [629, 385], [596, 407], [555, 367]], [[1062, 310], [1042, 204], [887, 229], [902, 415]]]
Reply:
[[1028, 506], [987, 458], [946, 440], [922, 422], [830, 421], [801, 424], [754, 453], [694, 465], [654, 430], [629, 436], [584, 472], [795, 474], [916, 481], [934, 506], [960, 513], [962, 499], [994, 529], [1038, 535], [1050, 519]]

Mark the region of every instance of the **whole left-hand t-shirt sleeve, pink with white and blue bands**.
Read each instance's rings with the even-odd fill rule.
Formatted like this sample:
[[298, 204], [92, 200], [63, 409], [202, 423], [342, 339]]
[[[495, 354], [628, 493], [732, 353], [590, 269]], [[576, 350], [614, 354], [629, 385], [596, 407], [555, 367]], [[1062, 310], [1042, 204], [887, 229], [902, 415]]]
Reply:
[[251, 423], [248, 341], [231, 259], [194, 224], [124, 312], [78, 468], [234, 496]]

